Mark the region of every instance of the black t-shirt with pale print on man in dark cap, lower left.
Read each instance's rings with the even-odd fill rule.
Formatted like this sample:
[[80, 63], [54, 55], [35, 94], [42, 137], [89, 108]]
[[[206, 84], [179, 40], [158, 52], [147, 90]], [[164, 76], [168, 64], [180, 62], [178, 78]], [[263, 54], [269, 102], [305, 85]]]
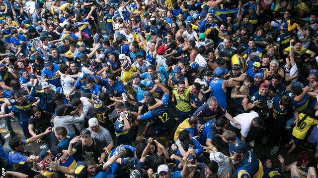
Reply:
[[83, 160], [87, 158], [94, 158], [97, 162], [98, 157], [100, 157], [103, 153], [102, 143], [96, 139], [93, 139], [93, 144], [90, 146], [82, 145], [81, 141], [79, 141], [73, 146], [73, 148], [77, 151], [81, 151], [81, 157]]

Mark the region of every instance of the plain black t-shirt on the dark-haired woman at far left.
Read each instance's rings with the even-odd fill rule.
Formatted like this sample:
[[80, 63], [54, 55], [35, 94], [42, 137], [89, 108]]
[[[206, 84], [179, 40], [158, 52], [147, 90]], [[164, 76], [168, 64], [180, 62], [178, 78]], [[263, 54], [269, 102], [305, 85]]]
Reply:
[[[46, 111], [42, 112], [42, 116], [40, 118], [34, 118], [33, 116], [29, 119], [29, 124], [33, 124], [35, 130], [39, 130], [42, 133], [49, 127], [51, 127], [50, 119], [52, 117], [51, 113]], [[36, 133], [39, 134], [39, 133]]]

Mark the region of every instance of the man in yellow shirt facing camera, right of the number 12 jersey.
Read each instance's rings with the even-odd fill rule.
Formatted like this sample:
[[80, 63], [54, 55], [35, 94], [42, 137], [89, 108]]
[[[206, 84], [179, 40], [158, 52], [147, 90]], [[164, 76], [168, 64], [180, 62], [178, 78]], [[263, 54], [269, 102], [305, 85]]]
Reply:
[[184, 82], [180, 82], [177, 88], [172, 89], [172, 102], [176, 100], [175, 106], [179, 122], [183, 122], [185, 119], [192, 115], [192, 108], [190, 104], [190, 90], [191, 87], [185, 87]]

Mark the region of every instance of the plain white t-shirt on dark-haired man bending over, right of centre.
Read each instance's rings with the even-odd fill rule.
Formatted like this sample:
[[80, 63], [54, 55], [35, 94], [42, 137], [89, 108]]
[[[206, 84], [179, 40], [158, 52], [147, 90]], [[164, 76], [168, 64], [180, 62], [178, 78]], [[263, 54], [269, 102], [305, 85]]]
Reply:
[[[255, 117], [258, 117], [257, 112], [252, 111], [250, 113], [242, 113], [237, 115], [236, 117], [234, 117], [233, 119], [238, 121], [240, 124], [240, 134], [244, 137], [247, 136], [249, 129], [251, 127], [251, 123], [252, 123], [252, 119], [254, 119]], [[231, 125], [235, 128], [237, 128], [237, 126], [231, 122]]]

